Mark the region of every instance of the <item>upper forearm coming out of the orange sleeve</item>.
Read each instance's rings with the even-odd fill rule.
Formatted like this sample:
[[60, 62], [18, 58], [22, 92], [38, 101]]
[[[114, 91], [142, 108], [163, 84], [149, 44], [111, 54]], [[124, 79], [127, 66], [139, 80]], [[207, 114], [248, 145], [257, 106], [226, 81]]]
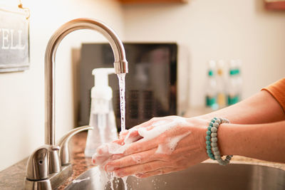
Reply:
[[235, 124], [259, 124], [285, 120], [285, 113], [275, 98], [262, 90], [242, 102], [199, 117], [205, 120], [224, 117]]

